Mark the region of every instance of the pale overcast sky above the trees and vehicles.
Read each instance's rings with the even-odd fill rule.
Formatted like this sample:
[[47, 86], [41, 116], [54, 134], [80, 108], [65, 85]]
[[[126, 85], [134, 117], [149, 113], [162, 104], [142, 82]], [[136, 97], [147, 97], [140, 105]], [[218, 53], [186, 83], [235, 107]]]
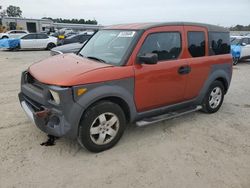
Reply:
[[191, 21], [232, 26], [250, 24], [250, 0], [0, 0], [19, 6], [27, 18], [96, 19], [111, 25]]

